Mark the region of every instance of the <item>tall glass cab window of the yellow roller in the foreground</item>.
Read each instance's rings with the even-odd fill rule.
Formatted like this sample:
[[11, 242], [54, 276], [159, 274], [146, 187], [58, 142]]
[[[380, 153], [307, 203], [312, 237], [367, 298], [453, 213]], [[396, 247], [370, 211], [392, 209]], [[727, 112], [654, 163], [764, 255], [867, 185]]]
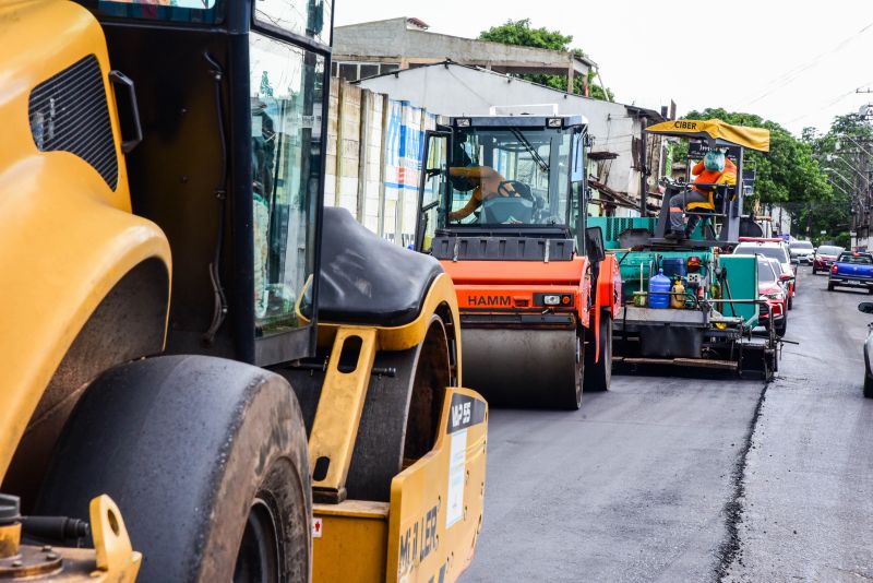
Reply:
[[259, 335], [301, 324], [314, 269], [324, 58], [251, 33], [254, 316]]

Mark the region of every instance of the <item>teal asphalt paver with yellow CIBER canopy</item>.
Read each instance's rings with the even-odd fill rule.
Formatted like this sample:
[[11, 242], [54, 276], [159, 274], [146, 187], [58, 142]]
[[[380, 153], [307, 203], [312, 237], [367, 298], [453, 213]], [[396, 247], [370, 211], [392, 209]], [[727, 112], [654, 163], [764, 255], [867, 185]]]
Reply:
[[[605, 245], [625, 283], [613, 321], [615, 361], [753, 370], [769, 379], [778, 366], [779, 343], [772, 329], [756, 331], [762, 310], [769, 310], [758, 296], [757, 260], [729, 254], [742, 236], [761, 235], [753, 217], [744, 214], [754, 177], [744, 172], [743, 153], [767, 152], [769, 132], [720, 120], [667, 121], [647, 131], [691, 140], [693, 159], [718, 150], [736, 166], [736, 175], [717, 183], [662, 179], [657, 217], [590, 219], [603, 228]], [[698, 199], [704, 200], [687, 204], [692, 193], [703, 193]], [[671, 231], [671, 207], [683, 211], [691, 233]], [[668, 284], [656, 290], [653, 281]]]

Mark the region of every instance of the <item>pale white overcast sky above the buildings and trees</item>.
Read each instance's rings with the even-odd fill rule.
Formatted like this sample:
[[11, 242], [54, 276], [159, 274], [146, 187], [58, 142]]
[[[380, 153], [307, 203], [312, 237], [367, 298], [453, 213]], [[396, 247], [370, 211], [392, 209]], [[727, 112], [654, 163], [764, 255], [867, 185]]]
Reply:
[[680, 115], [749, 111], [800, 134], [873, 103], [873, 94], [856, 93], [873, 88], [872, 8], [869, 0], [336, 0], [335, 24], [416, 16], [432, 32], [476, 37], [529, 17], [573, 35], [618, 102], [659, 109], [673, 99]]

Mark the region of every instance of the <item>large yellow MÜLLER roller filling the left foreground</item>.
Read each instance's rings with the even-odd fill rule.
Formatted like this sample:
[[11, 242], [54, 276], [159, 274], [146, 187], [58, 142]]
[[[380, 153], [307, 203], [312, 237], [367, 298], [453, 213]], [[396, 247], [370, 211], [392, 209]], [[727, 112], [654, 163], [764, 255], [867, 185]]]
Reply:
[[331, 12], [0, 5], [0, 578], [473, 559], [488, 409], [451, 278], [322, 209]]

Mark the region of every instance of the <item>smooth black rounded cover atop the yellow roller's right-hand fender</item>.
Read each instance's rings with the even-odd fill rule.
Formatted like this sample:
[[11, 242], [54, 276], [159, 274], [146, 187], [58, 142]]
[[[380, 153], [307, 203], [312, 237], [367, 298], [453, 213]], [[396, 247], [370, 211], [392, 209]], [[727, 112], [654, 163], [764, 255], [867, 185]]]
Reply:
[[[320, 321], [408, 324], [421, 312], [428, 290], [441, 273], [434, 258], [378, 237], [345, 209], [324, 209]], [[304, 314], [307, 311], [311, 312], [304, 310]]]

